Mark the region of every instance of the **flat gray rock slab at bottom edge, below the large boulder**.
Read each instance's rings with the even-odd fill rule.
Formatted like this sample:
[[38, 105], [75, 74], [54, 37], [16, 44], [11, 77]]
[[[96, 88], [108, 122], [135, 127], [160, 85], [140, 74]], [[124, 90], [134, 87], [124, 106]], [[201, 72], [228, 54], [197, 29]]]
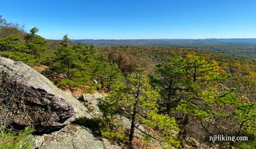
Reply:
[[34, 141], [38, 145], [34, 147], [38, 149], [121, 149], [116, 143], [96, 136], [90, 129], [74, 124], [59, 132], [35, 136]]

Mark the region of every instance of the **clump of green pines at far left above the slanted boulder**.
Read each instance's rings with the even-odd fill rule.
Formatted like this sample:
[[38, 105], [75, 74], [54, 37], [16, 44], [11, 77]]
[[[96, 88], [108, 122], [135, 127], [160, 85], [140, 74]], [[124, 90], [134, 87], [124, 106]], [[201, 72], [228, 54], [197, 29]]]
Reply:
[[[0, 54], [15, 61], [22, 61], [28, 65], [34, 66], [44, 60], [45, 50], [47, 48], [47, 41], [39, 35], [36, 31], [31, 29], [31, 33], [26, 35], [26, 38], [32, 37], [23, 42], [20, 34], [11, 34], [7, 37], [0, 38]], [[33, 33], [33, 34], [32, 34]]]

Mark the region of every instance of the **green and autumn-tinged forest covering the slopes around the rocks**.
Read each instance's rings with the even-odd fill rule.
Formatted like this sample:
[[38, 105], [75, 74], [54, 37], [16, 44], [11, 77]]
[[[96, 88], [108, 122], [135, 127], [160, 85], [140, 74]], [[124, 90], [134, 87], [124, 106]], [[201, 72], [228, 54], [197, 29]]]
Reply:
[[[250, 54], [246, 59], [193, 47], [85, 45], [72, 43], [68, 34], [47, 40], [39, 30], [26, 32], [0, 16], [0, 56], [35, 68], [60, 89], [107, 94], [98, 101], [102, 117], [76, 122], [101, 137], [135, 149], [135, 129], [142, 126], [141, 144], [154, 139], [163, 149], [194, 149], [198, 143], [205, 149], [256, 149], [256, 61]], [[30, 149], [25, 138], [32, 133], [3, 127], [0, 147]], [[248, 140], [213, 143], [214, 134]]]

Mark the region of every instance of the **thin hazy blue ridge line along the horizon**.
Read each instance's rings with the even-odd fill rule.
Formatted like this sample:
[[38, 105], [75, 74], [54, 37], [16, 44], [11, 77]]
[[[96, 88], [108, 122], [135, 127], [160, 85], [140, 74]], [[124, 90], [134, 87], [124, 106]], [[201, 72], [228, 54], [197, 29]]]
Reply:
[[115, 46], [115, 45], [168, 45], [168, 44], [256, 44], [256, 38], [209, 38], [209, 39], [79, 39], [71, 40], [75, 43], [94, 44], [99, 46]]

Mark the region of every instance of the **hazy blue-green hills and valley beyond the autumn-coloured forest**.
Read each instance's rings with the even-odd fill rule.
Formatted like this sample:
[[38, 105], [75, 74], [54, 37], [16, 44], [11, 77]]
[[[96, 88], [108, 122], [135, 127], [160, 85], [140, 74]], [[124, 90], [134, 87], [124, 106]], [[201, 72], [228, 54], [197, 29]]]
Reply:
[[156, 46], [181, 47], [208, 50], [230, 56], [256, 60], [256, 38], [230, 38], [230, 39], [81, 39], [71, 40], [74, 43], [94, 44], [96, 46]]

